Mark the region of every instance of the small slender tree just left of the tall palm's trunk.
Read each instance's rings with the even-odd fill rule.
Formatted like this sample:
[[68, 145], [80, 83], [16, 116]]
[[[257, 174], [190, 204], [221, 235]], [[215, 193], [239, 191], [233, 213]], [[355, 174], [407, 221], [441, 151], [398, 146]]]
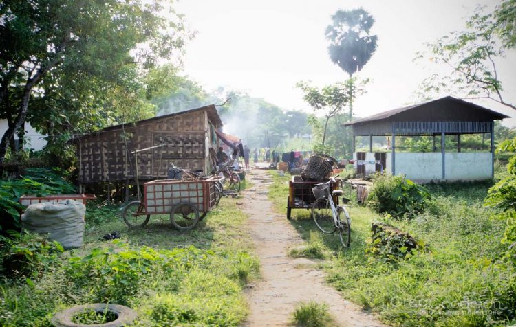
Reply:
[[297, 87], [303, 91], [303, 99], [312, 106], [315, 111], [323, 111], [325, 123], [323, 128], [322, 146], [326, 140], [326, 131], [330, 118], [341, 113], [350, 98], [347, 84], [335, 83], [322, 89], [312, 87], [308, 82], [299, 82]]

